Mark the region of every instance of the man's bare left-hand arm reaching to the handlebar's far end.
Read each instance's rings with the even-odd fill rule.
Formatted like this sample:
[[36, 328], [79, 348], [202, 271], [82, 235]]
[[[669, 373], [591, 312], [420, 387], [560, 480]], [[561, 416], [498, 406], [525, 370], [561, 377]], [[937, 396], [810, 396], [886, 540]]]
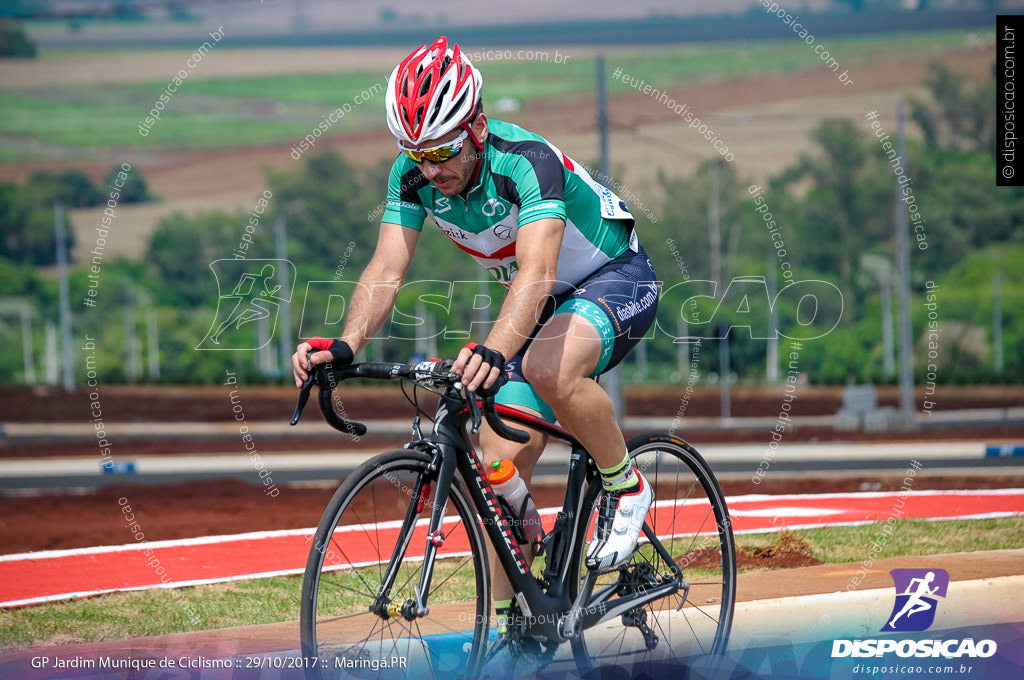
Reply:
[[[381, 330], [394, 307], [398, 289], [401, 288], [416, 252], [416, 244], [420, 232], [391, 222], [381, 222], [377, 238], [377, 249], [367, 268], [359, 277], [359, 284], [352, 293], [345, 314], [345, 326], [341, 339], [352, 348], [356, 354], [367, 346], [368, 338]], [[292, 354], [292, 371], [295, 374], [296, 386], [301, 386], [306, 379], [306, 354], [312, 347], [308, 342], [301, 343]], [[313, 364], [324, 364], [331, 360], [331, 352], [323, 350], [314, 352], [309, 358]]]

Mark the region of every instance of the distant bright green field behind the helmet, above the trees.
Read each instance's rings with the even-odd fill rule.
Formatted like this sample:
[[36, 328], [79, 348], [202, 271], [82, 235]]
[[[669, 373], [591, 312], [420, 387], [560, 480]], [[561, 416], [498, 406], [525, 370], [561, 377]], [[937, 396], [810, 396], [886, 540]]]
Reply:
[[[968, 31], [941, 31], [857, 38], [830, 38], [827, 47], [843, 68], [866, 61], [927, 56], [964, 47], [988, 36]], [[502, 97], [523, 102], [551, 100], [593, 92], [594, 60], [587, 55], [553, 61], [481, 61], [485, 73], [484, 99]], [[78, 52], [50, 52], [46, 62], [73, 60]], [[130, 59], [131, 51], [112, 51], [112, 59]], [[542, 57], [543, 58], [543, 57]], [[628, 83], [611, 79], [615, 69], [654, 87], [683, 87], [697, 82], [726, 80], [767, 72], [795, 72], [820, 68], [813, 49], [798, 39], [743, 44], [674, 46], [658, 49], [614, 50], [606, 57], [608, 89], [631, 91]], [[138, 133], [141, 122], [173, 74], [164, 80], [117, 85], [59, 88], [0, 86], [0, 135], [22, 140], [7, 151], [14, 158], [34, 156], [33, 141], [89, 152], [96, 148], [229, 148], [296, 141], [338, 107], [352, 110], [333, 125], [329, 134], [381, 124], [381, 95], [370, 105], [355, 103], [365, 89], [381, 83], [386, 73], [351, 72], [332, 75], [297, 73], [254, 78], [203, 78], [198, 71], [186, 79], [167, 103], [148, 136]], [[24, 146], [20, 147], [19, 146]]]

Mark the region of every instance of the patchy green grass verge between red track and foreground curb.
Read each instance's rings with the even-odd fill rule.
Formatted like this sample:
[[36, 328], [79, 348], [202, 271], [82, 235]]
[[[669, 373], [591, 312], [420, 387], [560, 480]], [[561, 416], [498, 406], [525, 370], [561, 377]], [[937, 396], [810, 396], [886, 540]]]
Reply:
[[[798, 530], [814, 557], [830, 563], [859, 562], [878, 540], [881, 523]], [[773, 545], [776, 534], [736, 537], [740, 550]], [[902, 520], [877, 559], [976, 550], [1024, 548], [1024, 517], [928, 522]], [[297, 621], [301, 577], [238, 581], [180, 589], [115, 593], [0, 611], [0, 648], [162, 635], [193, 630]], [[445, 600], [469, 599], [471, 583], [444, 585]], [[189, 622], [182, 599], [198, 612]]]

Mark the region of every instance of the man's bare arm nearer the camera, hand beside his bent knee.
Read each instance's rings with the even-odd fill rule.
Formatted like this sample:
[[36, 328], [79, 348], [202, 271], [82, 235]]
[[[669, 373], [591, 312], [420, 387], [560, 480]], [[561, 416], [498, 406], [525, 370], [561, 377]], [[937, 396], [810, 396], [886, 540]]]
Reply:
[[[498, 321], [483, 342], [488, 349], [500, 351], [509, 358], [526, 342], [537, 326], [545, 298], [555, 286], [564, 231], [565, 222], [550, 217], [519, 227], [515, 251], [519, 270], [502, 303]], [[481, 385], [490, 387], [505, 369], [488, 367], [480, 371], [482, 364], [482, 357], [467, 348], [459, 352], [454, 371], [463, 372], [463, 384], [470, 391]]]

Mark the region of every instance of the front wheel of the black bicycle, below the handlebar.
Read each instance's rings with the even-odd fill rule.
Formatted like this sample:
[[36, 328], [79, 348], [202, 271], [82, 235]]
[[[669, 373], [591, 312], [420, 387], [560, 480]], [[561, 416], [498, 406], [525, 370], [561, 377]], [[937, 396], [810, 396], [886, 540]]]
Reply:
[[[416, 599], [436, 476], [429, 463], [418, 451], [381, 454], [349, 475], [328, 504], [302, 582], [308, 675], [452, 678], [479, 669], [489, 630], [489, 573], [480, 524], [458, 480], [441, 524], [429, 613], [408, 621], [395, 610], [371, 611], [384, 590], [396, 607]], [[401, 539], [403, 526], [412, 527], [409, 540]], [[386, 589], [391, 564], [397, 571]]]

